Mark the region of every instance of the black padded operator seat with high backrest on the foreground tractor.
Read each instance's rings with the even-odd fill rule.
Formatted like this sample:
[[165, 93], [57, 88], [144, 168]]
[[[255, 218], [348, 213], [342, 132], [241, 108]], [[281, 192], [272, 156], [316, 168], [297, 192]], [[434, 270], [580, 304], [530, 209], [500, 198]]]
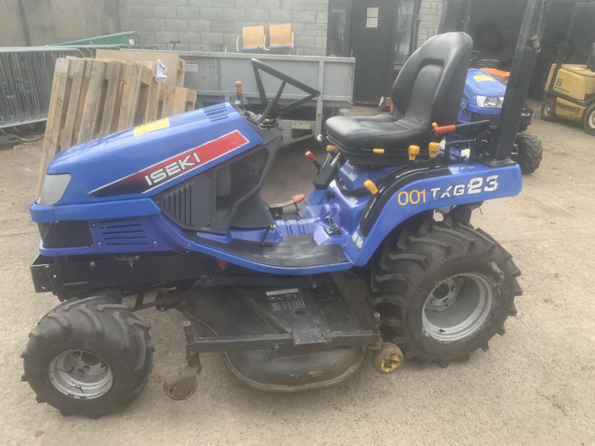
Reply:
[[472, 47], [471, 37], [461, 32], [428, 39], [405, 62], [390, 93], [402, 118], [329, 118], [324, 130], [330, 144], [339, 147], [351, 164], [403, 164], [409, 145], [420, 147], [418, 158], [428, 158], [428, 144], [441, 139], [433, 133], [432, 123], [455, 124]]

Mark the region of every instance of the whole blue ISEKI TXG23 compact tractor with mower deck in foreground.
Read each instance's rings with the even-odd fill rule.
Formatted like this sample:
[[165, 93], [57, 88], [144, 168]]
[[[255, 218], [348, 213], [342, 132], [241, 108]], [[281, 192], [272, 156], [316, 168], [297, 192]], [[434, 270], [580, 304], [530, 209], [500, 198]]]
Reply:
[[[61, 301], [22, 355], [37, 401], [90, 417], [133, 401], [152, 369], [135, 314], [148, 307], [187, 318], [187, 365], [164, 381], [174, 400], [198, 392], [209, 352], [246, 385], [284, 392], [342, 382], [367, 357], [387, 374], [404, 359], [446, 367], [487, 350], [516, 315], [521, 272], [470, 219], [518, 194], [521, 169], [490, 120], [456, 124], [471, 49], [452, 32], [412, 54], [392, 88], [400, 119], [329, 118], [299, 206], [303, 196], [267, 205], [259, 191], [275, 119], [320, 93], [256, 59], [258, 114], [239, 99], [58, 153], [30, 206], [35, 290]], [[278, 79], [274, 98], [261, 73]], [[286, 86], [305, 96], [279, 105]], [[334, 282], [347, 270], [367, 284], [369, 312], [355, 315]]]

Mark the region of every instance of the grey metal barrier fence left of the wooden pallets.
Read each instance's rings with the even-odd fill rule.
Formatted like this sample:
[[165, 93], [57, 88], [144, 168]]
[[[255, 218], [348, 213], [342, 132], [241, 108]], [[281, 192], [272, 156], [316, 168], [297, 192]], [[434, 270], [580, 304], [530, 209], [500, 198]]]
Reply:
[[0, 48], [0, 129], [47, 120], [54, 65], [65, 56], [84, 54], [52, 46]]

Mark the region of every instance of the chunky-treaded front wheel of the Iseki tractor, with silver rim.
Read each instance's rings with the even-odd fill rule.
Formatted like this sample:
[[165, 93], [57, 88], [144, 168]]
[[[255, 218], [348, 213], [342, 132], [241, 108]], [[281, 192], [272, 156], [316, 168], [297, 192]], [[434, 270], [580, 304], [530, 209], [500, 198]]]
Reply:
[[118, 412], [140, 392], [152, 369], [149, 325], [107, 296], [68, 300], [29, 334], [23, 381], [64, 416]]

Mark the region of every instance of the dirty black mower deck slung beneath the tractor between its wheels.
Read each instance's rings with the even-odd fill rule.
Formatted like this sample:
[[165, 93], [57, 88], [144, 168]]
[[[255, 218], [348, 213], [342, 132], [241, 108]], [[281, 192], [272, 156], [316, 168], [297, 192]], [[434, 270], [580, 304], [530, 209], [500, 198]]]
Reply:
[[330, 275], [321, 286], [189, 290], [184, 315], [211, 337], [186, 338], [187, 357], [221, 351], [241, 381], [283, 392], [336, 384], [381, 345], [379, 316], [362, 330]]

